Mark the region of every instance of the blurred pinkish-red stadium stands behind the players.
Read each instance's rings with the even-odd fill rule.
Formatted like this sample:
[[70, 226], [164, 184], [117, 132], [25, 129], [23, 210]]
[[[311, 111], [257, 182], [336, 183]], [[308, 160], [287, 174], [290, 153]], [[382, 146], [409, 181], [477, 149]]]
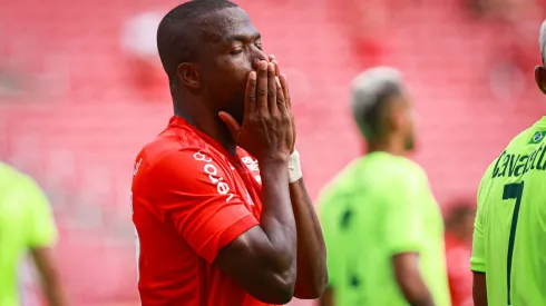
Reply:
[[[364, 148], [348, 98], [368, 67], [406, 75], [415, 159], [442, 208], [474, 197], [488, 162], [546, 113], [533, 83], [543, 0], [235, 2], [289, 76], [313, 197]], [[74, 305], [138, 305], [131, 166], [172, 113], [155, 31], [177, 3], [0, 0], [0, 159], [48, 193]]]

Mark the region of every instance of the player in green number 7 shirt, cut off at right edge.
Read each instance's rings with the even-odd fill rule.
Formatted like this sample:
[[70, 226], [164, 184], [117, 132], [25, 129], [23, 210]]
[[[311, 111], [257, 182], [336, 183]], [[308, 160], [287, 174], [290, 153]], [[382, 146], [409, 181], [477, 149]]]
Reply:
[[[546, 22], [539, 41], [544, 65]], [[546, 93], [546, 69], [537, 67], [535, 78]], [[546, 305], [545, 137], [546, 116], [516, 136], [481, 179], [470, 259], [476, 306]]]

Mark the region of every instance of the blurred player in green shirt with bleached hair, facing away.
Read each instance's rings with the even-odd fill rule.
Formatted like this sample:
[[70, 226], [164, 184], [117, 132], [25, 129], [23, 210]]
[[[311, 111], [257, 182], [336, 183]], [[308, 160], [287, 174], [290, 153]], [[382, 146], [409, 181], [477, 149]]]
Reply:
[[448, 306], [443, 221], [427, 175], [404, 157], [415, 120], [400, 73], [363, 72], [352, 106], [369, 151], [320, 196], [330, 276], [321, 306]]

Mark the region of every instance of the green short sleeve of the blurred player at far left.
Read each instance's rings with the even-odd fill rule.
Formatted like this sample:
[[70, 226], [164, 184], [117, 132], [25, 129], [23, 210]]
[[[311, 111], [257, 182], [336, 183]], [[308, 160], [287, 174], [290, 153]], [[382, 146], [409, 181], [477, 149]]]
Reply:
[[57, 227], [49, 201], [40, 187], [30, 178], [21, 188], [27, 207], [26, 237], [29, 248], [50, 247], [57, 241]]

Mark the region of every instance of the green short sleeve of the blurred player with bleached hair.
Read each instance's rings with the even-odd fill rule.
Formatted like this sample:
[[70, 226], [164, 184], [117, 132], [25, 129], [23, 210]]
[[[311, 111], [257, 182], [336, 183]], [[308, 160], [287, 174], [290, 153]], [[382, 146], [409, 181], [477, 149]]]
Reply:
[[419, 193], [422, 179], [417, 175], [398, 174], [388, 184], [392, 190], [383, 191], [384, 244], [391, 255], [421, 250]]

